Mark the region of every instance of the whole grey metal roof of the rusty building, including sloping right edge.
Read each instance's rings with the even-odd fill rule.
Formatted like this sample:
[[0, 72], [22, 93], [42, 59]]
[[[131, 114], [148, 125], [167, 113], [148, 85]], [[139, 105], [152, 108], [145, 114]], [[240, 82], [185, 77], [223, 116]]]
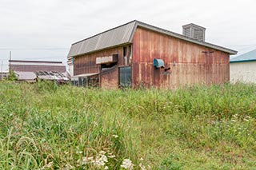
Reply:
[[233, 49], [227, 49], [225, 47], [219, 45], [213, 45], [208, 42], [199, 42], [193, 38], [188, 38], [182, 34], [177, 34], [171, 32], [169, 30], [164, 30], [162, 28], [158, 28], [156, 26], [151, 26], [144, 22], [128, 22], [122, 26], [115, 27], [111, 30], [106, 30], [100, 34], [96, 34], [93, 37], [86, 38], [80, 42], [75, 42], [71, 45], [70, 52], [68, 53], [68, 57], [75, 57], [85, 53], [92, 53], [94, 51], [108, 49], [110, 47], [125, 45], [132, 43], [134, 33], [137, 27], [140, 26], [142, 28], [146, 28], [148, 30], [153, 30], [161, 34], [166, 34], [174, 38], [179, 38], [185, 40], [187, 42], [192, 42], [198, 45], [203, 45], [212, 49], [218, 49], [220, 51], [236, 54], [237, 51]]

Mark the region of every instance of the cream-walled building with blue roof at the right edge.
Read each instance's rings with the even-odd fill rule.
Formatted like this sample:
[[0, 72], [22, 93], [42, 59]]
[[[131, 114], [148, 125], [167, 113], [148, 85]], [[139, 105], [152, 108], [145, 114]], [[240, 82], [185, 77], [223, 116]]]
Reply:
[[256, 83], [256, 49], [230, 59], [230, 81]]

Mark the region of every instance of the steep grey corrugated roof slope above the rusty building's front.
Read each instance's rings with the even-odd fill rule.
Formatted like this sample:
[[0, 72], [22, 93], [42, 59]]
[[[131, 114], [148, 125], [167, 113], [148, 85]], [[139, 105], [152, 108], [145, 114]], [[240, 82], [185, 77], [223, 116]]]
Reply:
[[68, 57], [129, 43], [135, 24], [135, 21], [130, 22], [126, 25], [103, 32], [102, 34], [97, 34], [94, 37], [87, 38], [81, 42], [74, 43], [70, 48]]

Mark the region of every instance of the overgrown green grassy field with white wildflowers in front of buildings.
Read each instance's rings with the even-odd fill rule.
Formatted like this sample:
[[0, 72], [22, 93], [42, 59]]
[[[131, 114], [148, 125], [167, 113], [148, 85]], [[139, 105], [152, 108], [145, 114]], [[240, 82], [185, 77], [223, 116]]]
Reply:
[[0, 169], [255, 169], [256, 85], [0, 82]]

